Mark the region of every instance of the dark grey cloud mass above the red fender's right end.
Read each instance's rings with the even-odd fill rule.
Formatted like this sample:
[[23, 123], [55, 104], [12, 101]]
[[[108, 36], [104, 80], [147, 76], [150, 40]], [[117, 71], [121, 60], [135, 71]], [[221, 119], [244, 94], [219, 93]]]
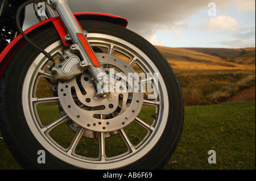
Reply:
[[181, 26], [179, 23], [185, 18], [208, 7], [205, 0], [94, 0], [81, 6], [84, 2], [72, 1], [72, 11], [96, 11], [122, 16], [129, 21], [129, 29], [144, 37], [154, 35], [157, 30], [172, 30], [175, 26]]

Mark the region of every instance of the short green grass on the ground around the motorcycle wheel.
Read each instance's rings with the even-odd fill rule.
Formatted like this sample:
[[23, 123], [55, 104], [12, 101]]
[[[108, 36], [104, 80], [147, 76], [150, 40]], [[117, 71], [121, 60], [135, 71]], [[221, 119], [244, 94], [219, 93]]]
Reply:
[[[147, 109], [145, 108], [141, 117], [146, 116]], [[130, 135], [134, 137], [134, 141], [138, 141], [137, 134]], [[114, 140], [109, 139], [111, 145]], [[82, 144], [86, 143], [84, 141]], [[118, 143], [116, 145], [120, 147]], [[7, 150], [3, 140], [0, 141], [0, 149], [1, 170], [22, 169]], [[109, 149], [115, 150], [113, 147]], [[209, 150], [216, 151], [216, 164], [207, 162]], [[109, 154], [115, 155], [111, 152]], [[255, 169], [255, 101], [186, 106], [183, 134], [174, 155], [164, 169]]]

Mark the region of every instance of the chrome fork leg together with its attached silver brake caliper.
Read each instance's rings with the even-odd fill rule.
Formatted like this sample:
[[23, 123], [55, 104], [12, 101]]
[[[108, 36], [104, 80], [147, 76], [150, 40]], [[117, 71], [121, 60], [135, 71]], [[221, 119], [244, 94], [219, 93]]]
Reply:
[[[87, 69], [94, 83], [100, 85], [106, 73], [86, 39], [86, 31], [81, 30], [79, 23], [77, 23], [77, 20], [69, 9], [67, 0], [49, 0], [49, 2], [53, 9], [57, 11], [63, 26], [68, 32], [68, 35], [65, 36], [66, 40], [70, 40], [73, 43], [70, 47], [70, 52], [73, 53], [73, 56], [65, 57], [64, 66], [66, 69], [59, 69], [59, 67], [64, 67], [59, 65], [64, 62], [62, 57], [62, 62], [59, 61], [59, 64], [55, 65], [52, 69], [51, 79], [53, 82], [57, 79], [72, 79]], [[76, 56], [76, 53], [79, 54], [79, 57]], [[108, 93], [102, 92], [101, 90], [100, 87], [97, 87], [96, 94], [105, 95]]]

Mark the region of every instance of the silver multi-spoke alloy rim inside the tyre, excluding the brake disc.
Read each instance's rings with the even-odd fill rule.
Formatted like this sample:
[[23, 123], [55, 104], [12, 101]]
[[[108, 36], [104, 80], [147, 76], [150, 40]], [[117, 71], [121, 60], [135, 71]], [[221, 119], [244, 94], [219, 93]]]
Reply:
[[[133, 65], [137, 64], [142, 71], [151, 73], [159, 72], [146, 54], [125, 40], [98, 33], [88, 33], [88, 40], [92, 47], [100, 47], [105, 49], [105, 56], [113, 56], [114, 52], [120, 52], [126, 58], [130, 58], [130, 60], [126, 62], [127, 65], [132, 67]], [[51, 52], [51, 54], [55, 54], [55, 56], [59, 56], [62, 48], [61, 41], [57, 41], [46, 48], [46, 50]], [[142, 102], [142, 105], [155, 108], [155, 120], [152, 121], [151, 125], [145, 123], [142, 119], [139, 119], [139, 117], [135, 117], [135, 119], [132, 120], [139, 127], [142, 127], [147, 131], [146, 136], [141, 142], [139, 142], [139, 144], [134, 146], [131, 143], [124, 128], [120, 128], [118, 130], [112, 129], [109, 130], [109, 132], [104, 132], [103, 130], [96, 132], [97, 130], [77, 127], [71, 145], [69, 145], [67, 148], [60, 146], [56, 140], [52, 138], [49, 132], [53, 128], [59, 126], [61, 123], [70, 123], [69, 116], [67, 114], [61, 115], [52, 123], [43, 125], [40, 123], [40, 117], [38, 116], [37, 110], [37, 106], [39, 104], [60, 102], [60, 98], [56, 96], [52, 96], [51, 98], [38, 98], [35, 94], [35, 91], [38, 88], [35, 85], [37, 84], [36, 81], [39, 80], [39, 77], [49, 78], [49, 73], [46, 71], [48, 64], [49, 63], [47, 63], [46, 58], [42, 54], [40, 54], [32, 63], [23, 84], [22, 103], [24, 115], [32, 133], [40, 144], [42, 144], [44, 148], [46, 148], [57, 158], [71, 165], [84, 169], [117, 169], [119, 167], [129, 165], [130, 163], [137, 161], [139, 158], [142, 158], [143, 155], [147, 154], [148, 151], [154, 147], [156, 142], [158, 142], [168, 117], [168, 102], [164, 101], [164, 99], [168, 100], [168, 94], [163, 78], [160, 74], [158, 77], [158, 99], [147, 100], [143, 98], [143, 100], [139, 100], [139, 102]], [[58, 89], [60, 91], [60, 88]], [[105, 154], [105, 139], [112, 137], [115, 134], [118, 134], [122, 138], [127, 147], [127, 151], [120, 155], [115, 155], [114, 157], [107, 157]], [[84, 157], [75, 153], [74, 150], [77, 149], [78, 142], [83, 136], [94, 139], [96, 138], [98, 140], [98, 157]]]

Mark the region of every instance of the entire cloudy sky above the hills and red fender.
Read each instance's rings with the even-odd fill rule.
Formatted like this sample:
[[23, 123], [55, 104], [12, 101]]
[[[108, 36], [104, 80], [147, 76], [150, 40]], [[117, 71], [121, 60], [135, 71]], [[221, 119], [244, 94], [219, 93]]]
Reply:
[[[72, 12], [104, 12], [165, 47], [255, 47], [255, 0], [68, 0]], [[23, 29], [35, 24], [31, 8]]]

